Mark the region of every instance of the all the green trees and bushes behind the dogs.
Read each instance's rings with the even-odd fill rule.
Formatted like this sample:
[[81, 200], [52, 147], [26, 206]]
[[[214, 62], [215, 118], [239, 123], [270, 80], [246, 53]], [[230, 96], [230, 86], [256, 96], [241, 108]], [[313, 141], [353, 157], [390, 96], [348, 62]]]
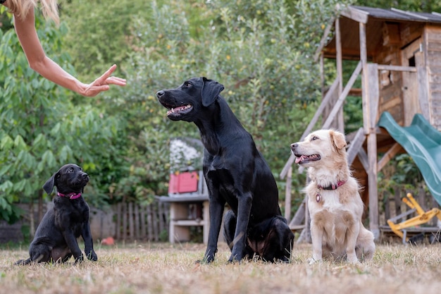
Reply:
[[[199, 134], [192, 123], [169, 121], [155, 93], [197, 76], [225, 85], [223, 96], [278, 178], [290, 143], [299, 140], [321, 99], [313, 60], [318, 42], [338, 13], [335, 5], [352, 2], [61, 1], [60, 27], [37, 18], [46, 53], [70, 73], [75, 67], [80, 80], [97, 78], [112, 63], [119, 66], [116, 75], [128, 79], [126, 87], [93, 100], [40, 78], [13, 31], [0, 30], [1, 209], [35, 197], [67, 161], [91, 175], [92, 204], [151, 202], [166, 194], [170, 139]], [[366, 5], [387, 1], [374, 2]], [[410, 8], [414, 1], [405, 2]], [[428, 4], [436, 6], [424, 1], [421, 7]], [[325, 66], [330, 82], [335, 68]], [[344, 72], [350, 75], [353, 66]], [[361, 125], [360, 103], [350, 97], [344, 106], [350, 129]], [[302, 188], [303, 177], [294, 174], [294, 189]], [[284, 183], [278, 184], [283, 199]]]

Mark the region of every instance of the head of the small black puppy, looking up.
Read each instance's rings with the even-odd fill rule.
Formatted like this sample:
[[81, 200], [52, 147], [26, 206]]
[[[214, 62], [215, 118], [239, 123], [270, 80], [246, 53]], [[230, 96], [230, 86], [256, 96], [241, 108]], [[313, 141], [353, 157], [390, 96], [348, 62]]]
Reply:
[[89, 182], [89, 175], [82, 171], [80, 166], [76, 164], [66, 164], [61, 166], [56, 173], [54, 173], [49, 180], [46, 180], [43, 188], [49, 195], [54, 186], [58, 192], [63, 194], [80, 193]]

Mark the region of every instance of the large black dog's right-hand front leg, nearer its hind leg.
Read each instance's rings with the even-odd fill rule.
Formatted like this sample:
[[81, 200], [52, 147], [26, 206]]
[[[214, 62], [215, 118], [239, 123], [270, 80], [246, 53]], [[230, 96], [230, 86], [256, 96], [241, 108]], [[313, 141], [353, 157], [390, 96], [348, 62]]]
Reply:
[[251, 205], [253, 196], [251, 192], [245, 192], [237, 196], [237, 224], [235, 238], [232, 241], [232, 252], [228, 262], [240, 261], [245, 254], [245, 240], [247, 240], [247, 229], [249, 222], [249, 214], [251, 213]]

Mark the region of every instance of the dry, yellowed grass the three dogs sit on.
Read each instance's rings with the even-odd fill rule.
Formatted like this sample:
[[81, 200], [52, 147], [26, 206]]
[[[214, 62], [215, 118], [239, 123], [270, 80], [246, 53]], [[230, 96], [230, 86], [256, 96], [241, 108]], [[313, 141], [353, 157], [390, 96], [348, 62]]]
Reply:
[[309, 265], [311, 245], [295, 245], [290, 264], [194, 262], [204, 245], [96, 248], [98, 262], [14, 266], [24, 250], [0, 251], [0, 293], [440, 293], [441, 245], [378, 245], [371, 262]]

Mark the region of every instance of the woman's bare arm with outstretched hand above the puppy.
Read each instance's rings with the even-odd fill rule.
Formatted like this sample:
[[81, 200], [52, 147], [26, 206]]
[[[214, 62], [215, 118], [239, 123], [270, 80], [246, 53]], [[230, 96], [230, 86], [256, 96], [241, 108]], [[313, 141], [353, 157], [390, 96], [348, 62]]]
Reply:
[[111, 74], [116, 69], [116, 65], [111, 66], [106, 73], [97, 78], [97, 80], [94, 80], [94, 82], [85, 84], [49, 59], [44, 53], [42, 44], [38, 39], [37, 31], [35, 30], [33, 10], [27, 13], [24, 20], [14, 18], [14, 25], [21, 47], [23, 51], [25, 51], [27, 62], [34, 71], [37, 71], [37, 73], [44, 78], [87, 97], [93, 97], [101, 91], [108, 90], [109, 85], [125, 85], [124, 79], [111, 77]]

